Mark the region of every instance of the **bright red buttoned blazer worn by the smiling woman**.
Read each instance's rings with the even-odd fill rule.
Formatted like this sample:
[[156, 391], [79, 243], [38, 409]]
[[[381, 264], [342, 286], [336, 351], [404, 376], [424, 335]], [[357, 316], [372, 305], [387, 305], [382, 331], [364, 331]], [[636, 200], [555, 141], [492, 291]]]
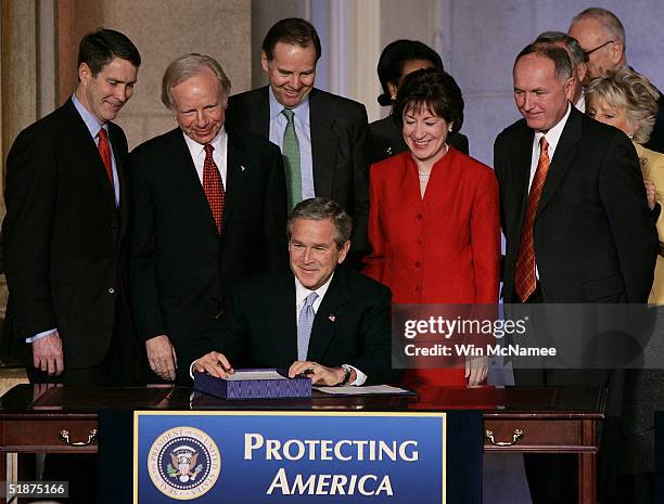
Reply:
[[[410, 152], [371, 166], [365, 273], [395, 303], [498, 302], [498, 182], [482, 163], [450, 147], [431, 172], [424, 198]], [[407, 386], [463, 386], [457, 369], [409, 370]]]

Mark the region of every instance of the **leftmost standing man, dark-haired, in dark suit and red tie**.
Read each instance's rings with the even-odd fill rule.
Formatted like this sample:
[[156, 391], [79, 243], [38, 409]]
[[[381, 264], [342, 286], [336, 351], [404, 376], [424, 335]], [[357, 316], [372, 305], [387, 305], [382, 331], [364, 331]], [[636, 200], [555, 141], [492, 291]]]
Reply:
[[86, 35], [76, 92], [22, 131], [10, 151], [5, 336], [31, 382], [135, 379], [126, 298], [127, 139], [111, 121], [131, 98], [140, 64], [125, 35], [103, 28]]

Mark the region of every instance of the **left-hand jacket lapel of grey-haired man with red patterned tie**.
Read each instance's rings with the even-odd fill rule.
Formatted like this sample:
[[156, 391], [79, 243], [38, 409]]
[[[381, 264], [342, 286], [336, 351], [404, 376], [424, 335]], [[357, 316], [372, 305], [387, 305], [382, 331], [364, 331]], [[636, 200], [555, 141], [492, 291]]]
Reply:
[[168, 153], [165, 153], [163, 159], [168, 159], [176, 183], [191, 198], [194, 207], [208, 220], [210, 227], [217, 229], [207, 197], [205, 197], [205, 192], [203, 191], [203, 185], [196, 175], [196, 167], [191, 158], [187, 142], [184, 142], [182, 137], [183, 133], [180, 128], [176, 128], [170, 134], [173, 135], [173, 142], [168, 143], [170, 148]]

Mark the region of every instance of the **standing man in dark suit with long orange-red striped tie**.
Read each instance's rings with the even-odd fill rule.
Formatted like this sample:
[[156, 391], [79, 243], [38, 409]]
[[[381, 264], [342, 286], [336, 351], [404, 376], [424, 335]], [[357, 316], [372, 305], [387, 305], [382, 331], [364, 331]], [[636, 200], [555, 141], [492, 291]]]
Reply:
[[[564, 49], [526, 47], [513, 75], [523, 119], [498, 135], [494, 151], [507, 241], [505, 301], [646, 302], [657, 235], [634, 146], [622, 131], [572, 106]], [[611, 373], [528, 371], [515, 371], [518, 384], [605, 386], [613, 379]], [[574, 478], [574, 461], [562, 456], [524, 457], [534, 504], [575, 502], [574, 487], [564, 483]]]

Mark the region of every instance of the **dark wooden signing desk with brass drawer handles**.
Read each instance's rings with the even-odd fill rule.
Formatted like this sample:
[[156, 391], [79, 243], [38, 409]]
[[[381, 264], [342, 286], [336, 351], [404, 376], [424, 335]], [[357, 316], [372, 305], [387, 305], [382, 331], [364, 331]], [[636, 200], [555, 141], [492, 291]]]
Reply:
[[[97, 428], [98, 413], [126, 410], [343, 410], [483, 411], [484, 450], [491, 452], [577, 453], [579, 503], [596, 503], [597, 423], [603, 418], [603, 393], [591, 388], [465, 389], [423, 387], [418, 397], [316, 396], [310, 400], [191, 400], [191, 389], [157, 386], [71, 390], [18, 385], [0, 399], [0, 453], [95, 453], [85, 442]], [[493, 437], [493, 441], [491, 438]], [[0, 457], [5, 478], [5, 457]]]

